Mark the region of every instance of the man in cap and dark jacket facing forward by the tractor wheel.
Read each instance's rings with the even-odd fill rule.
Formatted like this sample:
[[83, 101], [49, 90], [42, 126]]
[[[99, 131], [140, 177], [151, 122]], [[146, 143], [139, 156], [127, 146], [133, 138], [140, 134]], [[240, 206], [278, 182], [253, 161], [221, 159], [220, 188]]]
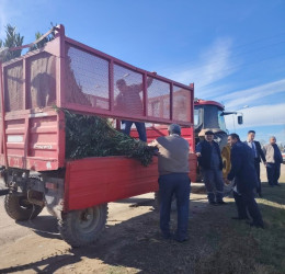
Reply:
[[212, 205], [225, 205], [224, 180], [223, 180], [223, 161], [220, 149], [214, 141], [214, 133], [207, 130], [205, 140], [196, 146], [196, 156], [198, 164], [202, 168], [203, 180], [208, 193], [208, 203]]

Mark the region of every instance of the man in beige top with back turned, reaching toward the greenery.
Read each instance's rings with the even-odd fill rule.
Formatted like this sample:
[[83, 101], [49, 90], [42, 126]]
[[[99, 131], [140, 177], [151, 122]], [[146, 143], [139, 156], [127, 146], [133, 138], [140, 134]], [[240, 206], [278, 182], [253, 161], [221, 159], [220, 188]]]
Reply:
[[[187, 240], [190, 178], [189, 178], [189, 142], [181, 137], [181, 127], [169, 126], [169, 136], [153, 140], [150, 146], [159, 149], [159, 194], [160, 194], [160, 229], [164, 239], [174, 238], [179, 242]], [[172, 196], [176, 197], [178, 228], [172, 236], [169, 227]]]

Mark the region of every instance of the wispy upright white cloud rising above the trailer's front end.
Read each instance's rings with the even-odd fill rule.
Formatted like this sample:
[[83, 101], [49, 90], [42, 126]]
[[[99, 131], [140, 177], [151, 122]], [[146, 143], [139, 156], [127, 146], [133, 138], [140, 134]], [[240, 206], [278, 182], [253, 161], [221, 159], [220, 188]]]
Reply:
[[185, 84], [194, 82], [196, 90], [200, 91], [200, 96], [205, 96], [209, 93], [205, 87], [226, 78], [236, 70], [232, 67], [231, 44], [229, 38], [217, 39], [207, 50], [202, 53], [195, 64], [172, 73], [170, 78]]

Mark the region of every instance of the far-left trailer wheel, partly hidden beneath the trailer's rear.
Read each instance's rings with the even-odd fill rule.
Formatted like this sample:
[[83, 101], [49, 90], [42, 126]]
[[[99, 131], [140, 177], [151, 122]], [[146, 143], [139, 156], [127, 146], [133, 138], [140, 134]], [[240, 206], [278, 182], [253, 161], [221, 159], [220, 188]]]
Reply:
[[8, 194], [4, 198], [4, 208], [12, 219], [29, 220], [34, 219], [44, 207], [29, 203], [25, 196]]

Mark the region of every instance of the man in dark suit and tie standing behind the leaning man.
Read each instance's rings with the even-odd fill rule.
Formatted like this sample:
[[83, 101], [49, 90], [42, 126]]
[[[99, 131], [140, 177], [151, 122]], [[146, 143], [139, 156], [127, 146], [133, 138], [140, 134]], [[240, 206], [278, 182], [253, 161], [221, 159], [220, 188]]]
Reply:
[[252, 153], [254, 157], [254, 167], [255, 167], [255, 171], [256, 171], [256, 175], [258, 175], [256, 192], [258, 192], [259, 196], [262, 197], [261, 181], [260, 181], [260, 163], [261, 163], [261, 159], [262, 159], [263, 163], [266, 165], [266, 160], [265, 160], [263, 150], [261, 149], [260, 142], [254, 140], [254, 137], [255, 137], [255, 132], [249, 130], [248, 140], [246, 140], [244, 142], [252, 149]]

